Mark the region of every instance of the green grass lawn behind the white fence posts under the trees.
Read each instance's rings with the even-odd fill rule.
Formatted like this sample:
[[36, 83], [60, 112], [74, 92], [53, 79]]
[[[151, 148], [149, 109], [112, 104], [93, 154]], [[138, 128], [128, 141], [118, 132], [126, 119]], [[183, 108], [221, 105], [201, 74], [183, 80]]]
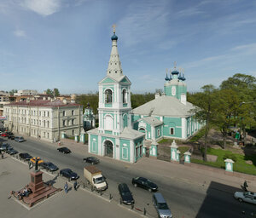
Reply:
[[[232, 153], [230, 151], [225, 151], [222, 149], [214, 149], [214, 148], [208, 148], [207, 154], [212, 154], [212, 155], [218, 156], [217, 161], [216, 162], [204, 162], [202, 160], [191, 159], [191, 162], [195, 163], [195, 164], [205, 164], [205, 165], [210, 165], [212, 167], [225, 169], [224, 155], [229, 154], [229, 155], [232, 155], [234, 158], [236, 158], [236, 162], [233, 164], [234, 171], [245, 173], [245, 174], [250, 174], [250, 175], [256, 175], [256, 167], [255, 167], [256, 155], [253, 155], [253, 156], [241, 155], [238, 153]], [[246, 164], [245, 162], [247, 160], [251, 160], [253, 162], [253, 165]]]

